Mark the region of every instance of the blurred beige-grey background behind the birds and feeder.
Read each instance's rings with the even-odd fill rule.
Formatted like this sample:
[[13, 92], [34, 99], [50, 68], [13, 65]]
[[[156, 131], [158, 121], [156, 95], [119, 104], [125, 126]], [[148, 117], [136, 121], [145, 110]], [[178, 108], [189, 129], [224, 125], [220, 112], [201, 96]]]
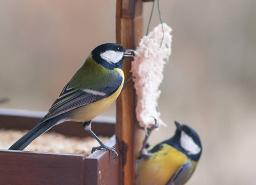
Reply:
[[[152, 2], [144, 3], [146, 32]], [[161, 0], [173, 28], [159, 110], [199, 133], [203, 153], [188, 184], [255, 184], [256, 1]], [[150, 30], [160, 23], [157, 7]], [[0, 108], [47, 111], [91, 50], [115, 43], [115, 0], [0, 0]], [[115, 105], [102, 113], [115, 117]]]

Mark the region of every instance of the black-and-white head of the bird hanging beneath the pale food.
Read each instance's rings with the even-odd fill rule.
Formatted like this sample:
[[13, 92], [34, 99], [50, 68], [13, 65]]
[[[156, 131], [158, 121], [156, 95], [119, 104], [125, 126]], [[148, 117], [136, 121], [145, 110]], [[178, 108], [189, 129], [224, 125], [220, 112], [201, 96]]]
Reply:
[[178, 145], [184, 154], [188, 155], [192, 160], [199, 160], [202, 153], [202, 146], [196, 131], [187, 125], [182, 125], [176, 120], [175, 125], [176, 132], [173, 138], [178, 139]]

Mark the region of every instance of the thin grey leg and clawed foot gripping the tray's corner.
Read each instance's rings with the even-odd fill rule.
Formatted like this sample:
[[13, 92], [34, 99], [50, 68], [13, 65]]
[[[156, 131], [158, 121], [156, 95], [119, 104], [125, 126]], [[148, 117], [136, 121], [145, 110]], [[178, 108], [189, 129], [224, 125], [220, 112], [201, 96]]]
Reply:
[[98, 147], [93, 147], [93, 149], [91, 149], [91, 152], [93, 153], [95, 150], [101, 150], [101, 149], [105, 149], [105, 150], [109, 150], [112, 152], [112, 154], [110, 155], [115, 155], [115, 158], [117, 158], [118, 154], [117, 152], [115, 151], [115, 148], [114, 147], [109, 147], [109, 146], [106, 146], [102, 141], [101, 139], [99, 139], [96, 134], [93, 133], [93, 131], [91, 130], [91, 121], [85, 121], [83, 123], [83, 127], [85, 128], [86, 131], [88, 131], [89, 134], [91, 134], [91, 136], [93, 136], [93, 138], [95, 138], [97, 140], [97, 142], [99, 142], [99, 144], [101, 146], [98, 146]]

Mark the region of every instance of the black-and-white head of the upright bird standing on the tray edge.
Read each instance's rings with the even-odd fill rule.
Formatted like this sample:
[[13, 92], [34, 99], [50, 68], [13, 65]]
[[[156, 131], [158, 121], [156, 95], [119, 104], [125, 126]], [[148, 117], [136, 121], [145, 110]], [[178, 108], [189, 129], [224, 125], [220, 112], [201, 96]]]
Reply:
[[125, 49], [123, 46], [114, 43], [107, 43], [97, 46], [91, 55], [93, 59], [98, 63], [109, 68], [121, 68], [123, 67], [123, 59], [127, 57], [134, 57], [134, 50]]

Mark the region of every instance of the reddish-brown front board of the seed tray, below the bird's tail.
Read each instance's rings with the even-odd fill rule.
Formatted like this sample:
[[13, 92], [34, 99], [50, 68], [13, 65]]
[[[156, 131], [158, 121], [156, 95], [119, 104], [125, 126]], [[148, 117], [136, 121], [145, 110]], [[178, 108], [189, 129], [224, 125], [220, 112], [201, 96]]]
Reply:
[[0, 150], [0, 184], [83, 184], [84, 155]]

